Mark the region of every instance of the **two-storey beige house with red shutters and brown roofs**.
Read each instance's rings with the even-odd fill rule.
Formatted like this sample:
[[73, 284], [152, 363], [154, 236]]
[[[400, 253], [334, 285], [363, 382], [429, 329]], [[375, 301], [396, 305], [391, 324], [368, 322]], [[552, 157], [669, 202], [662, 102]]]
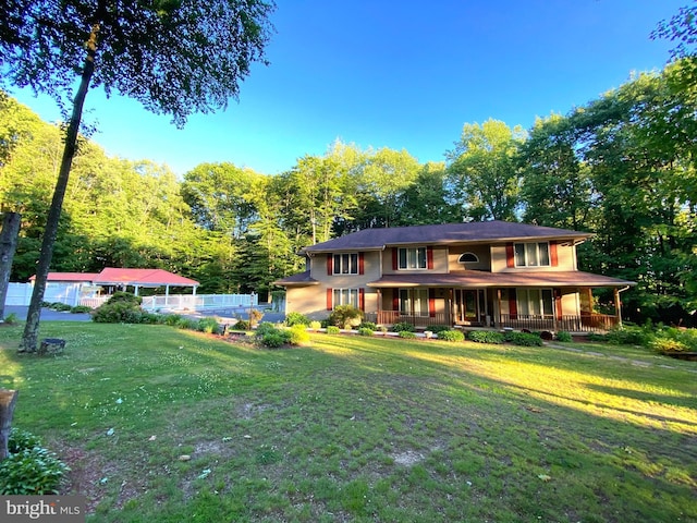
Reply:
[[[313, 319], [353, 304], [378, 325], [604, 330], [635, 283], [578, 270], [590, 236], [496, 220], [365, 229], [303, 248], [307, 270], [276, 283]], [[594, 313], [595, 288], [614, 290], [614, 315]]]

